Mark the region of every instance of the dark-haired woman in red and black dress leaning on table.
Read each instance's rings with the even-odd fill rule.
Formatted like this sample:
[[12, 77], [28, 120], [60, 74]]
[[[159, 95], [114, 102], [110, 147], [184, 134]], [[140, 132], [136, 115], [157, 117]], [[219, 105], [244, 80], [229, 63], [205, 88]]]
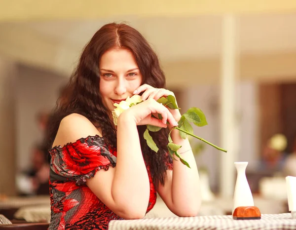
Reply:
[[[191, 169], [167, 154], [168, 131], [181, 115], [156, 102], [174, 95], [164, 86], [157, 56], [138, 31], [112, 23], [96, 32], [49, 121], [49, 229], [107, 229], [111, 220], [141, 219], [156, 192], [176, 215], [197, 215], [198, 171], [178, 130], [171, 136]], [[144, 102], [123, 112], [115, 126], [113, 104], [134, 94]], [[143, 138], [147, 124], [163, 127], [152, 134], [158, 153]]]

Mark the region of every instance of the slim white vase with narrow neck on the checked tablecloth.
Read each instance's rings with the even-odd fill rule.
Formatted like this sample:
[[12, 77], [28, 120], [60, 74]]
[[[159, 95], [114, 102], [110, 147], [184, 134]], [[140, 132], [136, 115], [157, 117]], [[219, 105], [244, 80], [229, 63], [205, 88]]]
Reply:
[[232, 214], [237, 207], [254, 206], [253, 195], [246, 177], [248, 162], [234, 162], [237, 177], [233, 196]]

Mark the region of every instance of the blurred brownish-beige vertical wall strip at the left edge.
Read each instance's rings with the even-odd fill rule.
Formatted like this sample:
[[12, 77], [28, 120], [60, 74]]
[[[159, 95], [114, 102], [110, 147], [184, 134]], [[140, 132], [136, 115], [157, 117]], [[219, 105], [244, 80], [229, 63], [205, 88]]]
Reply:
[[0, 57], [0, 193], [15, 193], [15, 64]]

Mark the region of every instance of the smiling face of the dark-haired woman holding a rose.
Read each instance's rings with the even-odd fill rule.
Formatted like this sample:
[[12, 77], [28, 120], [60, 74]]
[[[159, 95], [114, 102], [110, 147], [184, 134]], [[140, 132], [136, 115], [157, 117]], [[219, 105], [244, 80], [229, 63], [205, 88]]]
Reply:
[[100, 94], [104, 105], [114, 110], [141, 85], [142, 75], [133, 54], [127, 49], [111, 49], [103, 54], [99, 63]]

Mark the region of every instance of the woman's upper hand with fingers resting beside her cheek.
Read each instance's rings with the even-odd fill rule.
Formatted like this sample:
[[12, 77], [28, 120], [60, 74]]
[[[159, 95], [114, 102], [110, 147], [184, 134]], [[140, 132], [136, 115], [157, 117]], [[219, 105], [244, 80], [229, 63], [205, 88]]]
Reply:
[[[143, 84], [140, 87], [138, 87], [135, 91], [134, 94], [139, 94], [141, 92], [144, 93], [142, 94], [141, 98], [143, 101], [147, 100], [147, 99], [154, 99], [155, 101], [157, 101], [159, 98], [161, 97], [167, 97], [168, 95], [172, 95], [175, 97], [175, 94], [167, 89], [157, 89], [152, 87], [151, 85], [148, 84]], [[176, 97], [175, 97], [176, 98]], [[177, 103], [177, 102], [176, 102]], [[180, 110], [176, 109], [176, 110], [171, 110], [168, 109], [171, 114], [174, 116], [175, 120], [178, 122], [181, 119], [181, 114], [180, 114]]]

